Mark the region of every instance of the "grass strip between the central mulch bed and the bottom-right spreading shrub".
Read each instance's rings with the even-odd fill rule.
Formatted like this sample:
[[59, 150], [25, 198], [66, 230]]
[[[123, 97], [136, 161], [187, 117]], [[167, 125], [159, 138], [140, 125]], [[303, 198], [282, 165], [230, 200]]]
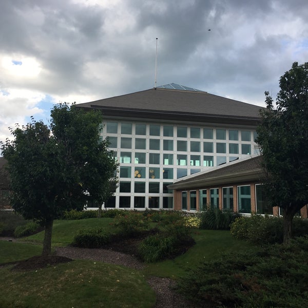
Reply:
[[173, 260], [149, 264], [144, 273], [148, 276], [178, 279], [189, 269], [196, 268], [204, 261], [215, 260], [224, 252], [244, 251], [253, 247], [248, 242], [232, 238], [230, 232], [225, 230], [196, 230], [193, 238], [196, 245], [185, 254]]

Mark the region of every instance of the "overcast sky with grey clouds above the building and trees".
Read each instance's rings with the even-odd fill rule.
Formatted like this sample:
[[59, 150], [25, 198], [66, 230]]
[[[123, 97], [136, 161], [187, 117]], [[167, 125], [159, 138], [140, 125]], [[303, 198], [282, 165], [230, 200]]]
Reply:
[[[306, 0], [2, 0], [0, 140], [53, 103], [177, 83], [264, 106], [308, 61]], [[210, 31], [209, 31], [210, 29]]]

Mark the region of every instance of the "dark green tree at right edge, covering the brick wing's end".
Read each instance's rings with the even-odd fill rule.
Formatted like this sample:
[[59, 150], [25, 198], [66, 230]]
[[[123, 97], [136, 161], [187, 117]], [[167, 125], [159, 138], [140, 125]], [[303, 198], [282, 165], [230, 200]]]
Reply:
[[285, 244], [292, 220], [308, 203], [308, 63], [293, 63], [280, 78], [276, 105], [268, 92], [261, 111], [257, 143], [261, 147], [266, 194], [283, 211]]

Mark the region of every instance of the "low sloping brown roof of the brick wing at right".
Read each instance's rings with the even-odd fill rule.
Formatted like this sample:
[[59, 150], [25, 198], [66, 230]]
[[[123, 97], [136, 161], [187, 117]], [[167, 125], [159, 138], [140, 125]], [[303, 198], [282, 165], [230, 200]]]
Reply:
[[262, 156], [239, 160], [208, 171], [199, 172], [179, 180], [169, 189], [206, 188], [215, 185], [237, 184], [245, 181], [261, 181], [263, 170], [261, 168]]

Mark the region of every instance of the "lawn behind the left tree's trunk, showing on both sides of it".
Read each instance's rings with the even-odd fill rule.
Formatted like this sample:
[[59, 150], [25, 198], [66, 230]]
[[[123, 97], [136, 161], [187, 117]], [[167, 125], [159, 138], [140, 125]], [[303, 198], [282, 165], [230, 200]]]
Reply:
[[[113, 218], [88, 218], [80, 220], [55, 220], [52, 228], [51, 245], [53, 247], [67, 246], [74, 240], [75, 234], [84, 228], [100, 227], [106, 231], [114, 230], [114, 226], [110, 225], [114, 222]], [[44, 231], [24, 238], [24, 241], [42, 244], [44, 239]]]

